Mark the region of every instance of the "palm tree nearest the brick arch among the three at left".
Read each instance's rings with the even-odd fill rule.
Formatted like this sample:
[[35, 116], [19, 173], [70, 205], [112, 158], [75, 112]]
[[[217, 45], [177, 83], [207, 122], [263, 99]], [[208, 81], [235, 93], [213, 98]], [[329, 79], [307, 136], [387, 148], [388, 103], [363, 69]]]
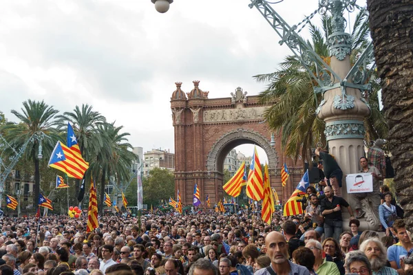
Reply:
[[105, 201], [105, 181], [114, 177], [118, 183], [127, 182], [131, 177], [131, 168], [137, 156], [131, 151], [133, 147], [127, 141], [129, 133], [120, 133], [123, 126], [115, 126], [114, 122], [105, 123], [98, 127], [103, 136], [103, 147], [96, 155], [92, 170], [96, 178], [100, 175], [100, 213], [103, 213]]

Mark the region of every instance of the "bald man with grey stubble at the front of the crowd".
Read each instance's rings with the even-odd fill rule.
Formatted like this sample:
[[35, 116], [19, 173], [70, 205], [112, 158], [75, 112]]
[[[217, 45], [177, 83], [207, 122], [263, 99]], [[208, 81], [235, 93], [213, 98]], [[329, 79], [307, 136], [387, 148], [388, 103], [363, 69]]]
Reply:
[[281, 233], [270, 232], [266, 235], [265, 245], [271, 265], [258, 270], [254, 275], [310, 275], [306, 267], [288, 261], [288, 243]]

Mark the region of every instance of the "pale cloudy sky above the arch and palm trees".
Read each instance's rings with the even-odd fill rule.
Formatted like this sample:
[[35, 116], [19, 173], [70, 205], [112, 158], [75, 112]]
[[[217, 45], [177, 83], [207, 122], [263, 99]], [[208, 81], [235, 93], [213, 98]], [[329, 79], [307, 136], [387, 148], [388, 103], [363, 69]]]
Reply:
[[[160, 14], [150, 0], [2, 0], [0, 111], [17, 121], [10, 110], [28, 99], [61, 113], [89, 104], [123, 125], [133, 146], [174, 151], [175, 82], [189, 92], [200, 80], [209, 98], [230, 96], [236, 87], [257, 95], [265, 83], [252, 76], [274, 72], [290, 54], [249, 3], [175, 0]], [[295, 25], [317, 5], [285, 0], [273, 8]], [[319, 16], [312, 22], [319, 24]], [[238, 149], [253, 153], [251, 146]]]

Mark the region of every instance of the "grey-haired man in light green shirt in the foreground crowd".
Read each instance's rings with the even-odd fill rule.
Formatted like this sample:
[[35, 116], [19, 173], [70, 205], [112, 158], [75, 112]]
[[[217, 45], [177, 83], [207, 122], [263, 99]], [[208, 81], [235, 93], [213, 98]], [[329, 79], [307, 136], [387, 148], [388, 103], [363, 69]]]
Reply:
[[[315, 231], [314, 231], [315, 232]], [[337, 265], [323, 259], [323, 249], [321, 243], [315, 239], [306, 242], [306, 248], [310, 248], [315, 256], [314, 270], [317, 275], [340, 275]]]

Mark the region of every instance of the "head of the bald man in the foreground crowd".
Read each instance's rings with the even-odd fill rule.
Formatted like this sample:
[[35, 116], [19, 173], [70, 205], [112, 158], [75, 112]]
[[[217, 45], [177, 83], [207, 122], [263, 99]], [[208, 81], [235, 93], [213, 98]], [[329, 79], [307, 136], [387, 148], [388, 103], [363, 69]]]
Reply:
[[282, 265], [288, 261], [288, 244], [283, 234], [277, 231], [268, 233], [265, 245], [273, 265]]

